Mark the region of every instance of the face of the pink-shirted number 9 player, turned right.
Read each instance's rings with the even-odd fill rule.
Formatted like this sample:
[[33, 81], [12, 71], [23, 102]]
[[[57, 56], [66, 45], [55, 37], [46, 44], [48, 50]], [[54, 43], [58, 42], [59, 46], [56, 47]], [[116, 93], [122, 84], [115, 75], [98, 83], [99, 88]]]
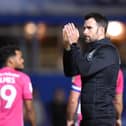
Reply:
[[13, 65], [16, 69], [23, 69], [24, 68], [24, 59], [22, 57], [22, 52], [20, 50], [15, 51], [15, 56], [13, 58]]

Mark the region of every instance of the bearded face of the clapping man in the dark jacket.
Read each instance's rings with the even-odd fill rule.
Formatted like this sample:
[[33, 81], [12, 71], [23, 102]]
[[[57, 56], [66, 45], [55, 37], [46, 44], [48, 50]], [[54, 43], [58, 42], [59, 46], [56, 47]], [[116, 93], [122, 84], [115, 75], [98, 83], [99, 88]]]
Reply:
[[99, 26], [94, 18], [89, 18], [88, 20], [85, 20], [83, 34], [86, 43], [98, 40]]

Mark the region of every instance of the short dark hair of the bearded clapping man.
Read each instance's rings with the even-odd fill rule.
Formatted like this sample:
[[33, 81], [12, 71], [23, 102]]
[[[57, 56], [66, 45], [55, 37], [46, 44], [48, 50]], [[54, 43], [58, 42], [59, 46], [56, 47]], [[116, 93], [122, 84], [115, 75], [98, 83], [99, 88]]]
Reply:
[[107, 27], [108, 27], [108, 19], [99, 14], [99, 13], [89, 13], [85, 16], [85, 20], [88, 20], [89, 18], [94, 18], [95, 21], [100, 25], [100, 26], [103, 26], [105, 28], [105, 32], [107, 31]]

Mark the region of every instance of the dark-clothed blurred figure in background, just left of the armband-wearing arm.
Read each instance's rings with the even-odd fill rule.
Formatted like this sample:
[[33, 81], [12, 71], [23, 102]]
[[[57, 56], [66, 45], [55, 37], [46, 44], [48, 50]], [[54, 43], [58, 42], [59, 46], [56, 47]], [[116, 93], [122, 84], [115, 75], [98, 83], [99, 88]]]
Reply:
[[54, 92], [53, 100], [49, 104], [52, 126], [66, 126], [66, 101], [65, 92], [58, 88]]

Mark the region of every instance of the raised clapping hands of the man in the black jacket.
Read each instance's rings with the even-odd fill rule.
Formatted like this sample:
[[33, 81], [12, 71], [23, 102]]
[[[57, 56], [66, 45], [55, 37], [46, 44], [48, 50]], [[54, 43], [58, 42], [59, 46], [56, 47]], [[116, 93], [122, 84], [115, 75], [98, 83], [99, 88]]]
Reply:
[[68, 23], [63, 28], [64, 41], [68, 41], [69, 44], [77, 43], [79, 39], [79, 31], [73, 23]]

